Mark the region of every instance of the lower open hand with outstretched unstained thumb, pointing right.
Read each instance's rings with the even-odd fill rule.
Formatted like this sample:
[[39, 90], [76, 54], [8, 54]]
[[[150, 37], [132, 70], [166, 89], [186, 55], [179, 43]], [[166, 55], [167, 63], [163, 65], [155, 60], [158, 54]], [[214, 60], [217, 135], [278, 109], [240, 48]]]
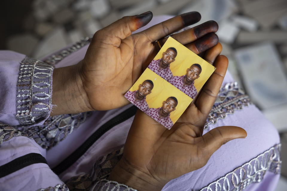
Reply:
[[138, 110], [123, 157], [109, 180], [139, 191], [161, 190], [171, 179], [203, 167], [222, 144], [246, 137], [245, 130], [234, 126], [217, 127], [202, 135], [228, 66], [228, 59], [218, 56], [221, 49], [219, 43], [206, 52], [205, 60], [214, 62], [216, 70], [170, 130]]

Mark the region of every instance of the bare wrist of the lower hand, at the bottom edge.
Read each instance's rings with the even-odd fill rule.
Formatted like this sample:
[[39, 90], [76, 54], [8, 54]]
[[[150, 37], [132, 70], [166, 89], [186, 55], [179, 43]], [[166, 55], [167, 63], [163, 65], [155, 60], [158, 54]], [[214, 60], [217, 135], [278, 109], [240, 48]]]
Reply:
[[117, 181], [138, 191], [161, 190], [167, 182], [160, 182], [152, 175], [128, 165], [124, 158], [118, 162], [109, 175], [109, 180]]

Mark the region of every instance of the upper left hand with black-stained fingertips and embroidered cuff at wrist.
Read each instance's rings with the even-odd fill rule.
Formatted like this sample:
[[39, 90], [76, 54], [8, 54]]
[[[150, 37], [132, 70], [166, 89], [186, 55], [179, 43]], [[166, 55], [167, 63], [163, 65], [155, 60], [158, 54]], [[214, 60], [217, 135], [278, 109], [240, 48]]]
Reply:
[[[197, 12], [185, 13], [131, 35], [152, 19], [152, 13], [147, 12], [123, 17], [97, 31], [80, 63], [54, 70], [52, 103], [58, 107], [51, 115], [110, 110], [129, 104], [123, 95], [155, 57], [159, 50], [156, 41], [164, 44], [164, 37], [200, 18]], [[217, 44], [217, 29], [215, 21], [207, 21], [172, 37], [199, 54]]]

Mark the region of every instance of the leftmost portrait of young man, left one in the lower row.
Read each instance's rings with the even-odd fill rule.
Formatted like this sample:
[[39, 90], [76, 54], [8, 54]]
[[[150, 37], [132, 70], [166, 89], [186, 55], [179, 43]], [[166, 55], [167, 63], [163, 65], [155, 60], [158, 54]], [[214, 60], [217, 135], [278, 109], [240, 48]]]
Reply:
[[146, 103], [146, 96], [152, 93], [152, 88], [153, 82], [151, 80], [145, 80], [138, 86], [138, 90], [128, 91], [124, 96], [132, 102], [132, 104], [145, 112], [149, 109], [149, 105]]

